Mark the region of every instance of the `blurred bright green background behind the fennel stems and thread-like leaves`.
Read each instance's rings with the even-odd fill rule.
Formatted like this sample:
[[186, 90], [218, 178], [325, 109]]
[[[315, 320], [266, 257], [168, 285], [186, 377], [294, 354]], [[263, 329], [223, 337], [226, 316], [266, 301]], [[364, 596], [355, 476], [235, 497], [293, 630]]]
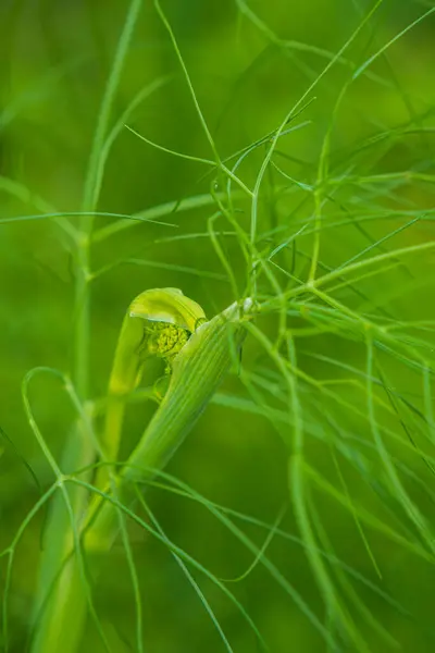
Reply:
[[[98, 111], [127, 5], [121, 0], [0, 3], [1, 550], [10, 545], [39, 497], [23, 460], [44, 489], [53, 480], [26, 420], [22, 379], [35, 366], [66, 373], [72, 370], [74, 252], [54, 219], [35, 217], [80, 210]], [[434, 236], [435, 15], [427, 15], [398, 38], [352, 82], [361, 64], [427, 12], [432, 3], [385, 0], [365, 21], [371, 7], [363, 0], [163, 2], [222, 159], [276, 130], [312, 86], [299, 109], [312, 102], [294, 121], [307, 124], [279, 139], [279, 152], [274, 158], [277, 168], [270, 167], [264, 176], [258, 248], [269, 256], [303, 225], [312, 225], [313, 188], [319, 180], [330, 177], [331, 185], [320, 198], [326, 227], [322, 231], [319, 273], [338, 268], [368, 247], [373, 246], [373, 256], [430, 243]], [[346, 42], [348, 47], [326, 70]], [[148, 97], [137, 102], [123, 122], [171, 150], [212, 159], [169, 34], [153, 3], [144, 2], [110, 124], [153, 83], [156, 89], [149, 88]], [[326, 138], [330, 141], [325, 150]], [[327, 161], [323, 169], [322, 150], [326, 151], [323, 162]], [[257, 148], [241, 165], [240, 176], [250, 187], [265, 152], [265, 146]], [[214, 178], [210, 168], [160, 151], [130, 131], [121, 130], [108, 159], [98, 210], [130, 215], [165, 202], [175, 204], [174, 210], [159, 217], [165, 224], [130, 221], [128, 227], [109, 233], [92, 246], [91, 269], [102, 273], [91, 282], [90, 398], [104, 396], [119, 328], [126, 307], [139, 292], [181, 287], [203, 306], [208, 316], [236, 298], [208, 232], [208, 220], [216, 210], [210, 198]], [[178, 210], [178, 200], [199, 195], [206, 196], [204, 206]], [[237, 194], [235, 201], [235, 215], [249, 233], [249, 202]], [[413, 219], [417, 221], [412, 225], [403, 226]], [[76, 224], [78, 219], [71, 215], [61, 220]], [[95, 231], [117, 220], [97, 217]], [[391, 236], [401, 226], [403, 230]], [[222, 215], [214, 227], [243, 292], [247, 274], [240, 239]], [[383, 238], [385, 242], [376, 244]], [[276, 262], [294, 280], [306, 280], [312, 235], [298, 243], [297, 249], [283, 248]], [[417, 257], [399, 256], [387, 262], [391, 261], [396, 264], [388, 270], [376, 264], [377, 275], [362, 279], [362, 271], [357, 288], [346, 286], [334, 296], [360, 315], [394, 322], [394, 333], [401, 343], [421, 336], [406, 328], [406, 322], [425, 321], [421, 340], [425, 343], [424, 356], [433, 361], [434, 254], [427, 249]], [[283, 286], [288, 282], [284, 274], [279, 280]], [[260, 292], [265, 297], [272, 293], [265, 284]], [[316, 526], [319, 546], [353, 569], [353, 575], [346, 572], [352, 591], [395, 638], [399, 650], [433, 651], [435, 575], [431, 547], [426, 546], [426, 556], [415, 554], [412, 546], [407, 549], [394, 541], [380, 526], [385, 522], [393, 530], [397, 528], [410, 542], [420, 537], [409, 516], [403, 516], [400, 497], [395, 495], [382, 457], [373, 446], [366, 420], [363, 338], [358, 329], [352, 332], [338, 319], [330, 330], [327, 312], [323, 318], [319, 316], [321, 311], [311, 323], [303, 315], [291, 318], [296, 331], [313, 325], [312, 335], [307, 331], [303, 337], [296, 337], [298, 366], [320, 385], [330, 384], [343, 404], [320, 392], [320, 385], [301, 380], [307, 457], [333, 488], [346, 495], [346, 486], [361, 510], [378, 520], [371, 527], [366, 521], [364, 532], [380, 574], [352, 510], [313, 483], [309, 490], [311, 516], [313, 523], [320, 519], [323, 525]], [[259, 319], [258, 326], [273, 338], [276, 321], [271, 312]], [[384, 394], [383, 401], [390, 406], [401, 402], [402, 406], [396, 416], [385, 411], [380, 417], [382, 429], [393, 433], [388, 453], [430, 525], [435, 518], [435, 492], [432, 463], [427, 460], [433, 455], [434, 433], [427, 426], [430, 420], [418, 414], [428, 410], [431, 387], [424, 385], [422, 369], [403, 361], [403, 356], [389, 356], [387, 350], [380, 350], [378, 356], [396, 393]], [[432, 362], [427, 365], [431, 368]], [[271, 537], [268, 558], [279, 570], [279, 579], [294, 586], [325, 628], [336, 634], [338, 628], [340, 636], [297, 540], [300, 532], [287, 478], [291, 452], [286, 433], [291, 428], [281, 422], [274, 426], [271, 414], [269, 419], [266, 415], [268, 406], [271, 410], [287, 410], [285, 380], [252, 336], [246, 342], [243, 366], [258, 394], [249, 392], [236, 370], [167, 471], [210, 501], [269, 525], [264, 528], [234, 517], [260, 547], [281, 516], [279, 528], [290, 538]], [[375, 368], [376, 378], [381, 368]], [[35, 380], [30, 394], [35, 417], [60, 459], [74, 412], [59, 382], [49, 377]], [[244, 405], [246, 410], [241, 410]], [[130, 451], [151, 410], [151, 404], [130, 407], [122, 457]], [[408, 438], [421, 439], [419, 446], [426, 457], [417, 448], [401, 445], [402, 440], [410, 442]], [[347, 459], [345, 449], [337, 446], [337, 455], [343, 454], [338, 467], [332, 455], [334, 439], [346, 442], [346, 452], [355, 453]], [[147, 496], [167, 537], [215, 577], [235, 579], [249, 568], [254, 554], [204, 506], [159, 489], [148, 490]], [[8, 603], [12, 653], [27, 650], [45, 519], [42, 510], [15, 550]], [[130, 535], [142, 595], [145, 651], [224, 651], [210, 616], [167, 547], [140, 529], [132, 528]], [[1, 560], [3, 586], [5, 557]], [[363, 632], [366, 650], [388, 650], [388, 642], [340, 584], [337, 566], [331, 564], [331, 568], [337, 591]], [[192, 575], [233, 650], [260, 650], [237, 607], [210, 579], [197, 570]], [[375, 583], [390, 599], [376, 593], [356, 575]], [[227, 587], [274, 653], [332, 650], [271, 568], [261, 562], [239, 582], [228, 582]], [[104, 572], [94, 584], [94, 595], [112, 651], [136, 651], [135, 601], [120, 544], [108, 554]], [[352, 651], [352, 646], [343, 643], [339, 650]], [[89, 620], [80, 651], [103, 650]]]

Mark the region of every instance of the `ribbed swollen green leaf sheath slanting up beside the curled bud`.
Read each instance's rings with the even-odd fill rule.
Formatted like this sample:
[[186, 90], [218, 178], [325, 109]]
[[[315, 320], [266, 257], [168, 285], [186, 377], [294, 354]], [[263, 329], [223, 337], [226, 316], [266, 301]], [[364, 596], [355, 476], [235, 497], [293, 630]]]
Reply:
[[[134, 483], [161, 469], [195, 426], [234, 361], [246, 319], [238, 306], [231, 306], [200, 326], [175, 358], [169, 391], [115, 480], [116, 498], [124, 504], [134, 502]], [[86, 547], [105, 551], [117, 532], [113, 504], [97, 496], [86, 528]]]

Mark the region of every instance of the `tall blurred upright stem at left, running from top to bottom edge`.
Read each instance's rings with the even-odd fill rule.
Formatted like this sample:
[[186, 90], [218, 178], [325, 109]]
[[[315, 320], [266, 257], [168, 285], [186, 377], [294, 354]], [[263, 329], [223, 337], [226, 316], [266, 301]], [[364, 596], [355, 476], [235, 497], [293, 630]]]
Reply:
[[[73, 381], [83, 406], [89, 398], [90, 266], [89, 244], [92, 213], [98, 205], [104, 158], [101, 152], [108, 133], [111, 109], [125, 63], [141, 0], [130, 0], [117, 44], [112, 70], [100, 107], [94, 144], [85, 181], [84, 215], [75, 245], [75, 330]], [[62, 472], [74, 472], [95, 460], [89, 429], [80, 421], [65, 446]], [[77, 491], [78, 490], [78, 491]], [[59, 493], [61, 494], [61, 493]], [[87, 507], [88, 495], [78, 488], [69, 489], [73, 520], [77, 527]], [[72, 541], [71, 512], [66, 514], [65, 495], [55, 498], [46, 529], [46, 550], [35, 601], [35, 630], [32, 653], [75, 653], [79, 650], [86, 617], [86, 591], [78, 574], [77, 553]], [[67, 560], [65, 563], [65, 560]]]

